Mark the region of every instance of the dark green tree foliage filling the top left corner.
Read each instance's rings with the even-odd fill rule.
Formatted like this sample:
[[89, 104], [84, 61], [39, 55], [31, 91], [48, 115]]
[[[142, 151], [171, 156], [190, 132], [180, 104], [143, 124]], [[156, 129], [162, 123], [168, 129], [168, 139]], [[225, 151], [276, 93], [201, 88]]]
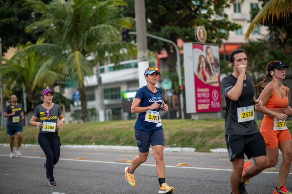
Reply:
[[[42, 0], [48, 3], [50, 0]], [[25, 27], [39, 19], [39, 15], [22, 0], [0, 0], [0, 37], [2, 38], [2, 53], [9, 47], [27, 42], [35, 42], [34, 38], [24, 32]]]

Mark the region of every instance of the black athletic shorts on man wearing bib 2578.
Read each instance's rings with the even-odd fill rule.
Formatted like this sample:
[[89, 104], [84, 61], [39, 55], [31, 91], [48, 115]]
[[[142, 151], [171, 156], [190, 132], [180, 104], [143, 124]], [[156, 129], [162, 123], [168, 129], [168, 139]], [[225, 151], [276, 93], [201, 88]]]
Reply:
[[232, 162], [234, 158], [248, 159], [267, 155], [266, 143], [260, 132], [250, 135], [225, 135], [228, 155]]

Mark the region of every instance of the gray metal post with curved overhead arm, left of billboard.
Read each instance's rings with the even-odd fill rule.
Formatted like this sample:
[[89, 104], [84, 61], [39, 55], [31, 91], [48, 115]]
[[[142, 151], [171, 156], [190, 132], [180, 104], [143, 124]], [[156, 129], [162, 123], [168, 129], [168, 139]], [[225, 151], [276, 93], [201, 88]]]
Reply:
[[[129, 32], [129, 34], [137, 34], [137, 32]], [[173, 47], [175, 48], [175, 51], [176, 51], [176, 69], [177, 69], [177, 72], [178, 72], [178, 84], [180, 86], [183, 85], [183, 83], [182, 83], [182, 75], [181, 75], [181, 71], [180, 71], [180, 53], [179, 53], [179, 50], [178, 50], [178, 46], [171, 40], [164, 39], [164, 38], [159, 37], [159, 36], [154, 36], [152, 34], [146, 34], [146, 35], [151, 37], [151, 38], [154, 38], [154, 39], [158, 39], [158, 40], [161, 40], [161, 41], [164, 41], [164, 42], [171, 43], [173, 45]], [[182, 91], [180, 92], [180, 111], [181, 111], [182, 119], [185, 119], [184, 103], [183, 103], [183, 92]]]

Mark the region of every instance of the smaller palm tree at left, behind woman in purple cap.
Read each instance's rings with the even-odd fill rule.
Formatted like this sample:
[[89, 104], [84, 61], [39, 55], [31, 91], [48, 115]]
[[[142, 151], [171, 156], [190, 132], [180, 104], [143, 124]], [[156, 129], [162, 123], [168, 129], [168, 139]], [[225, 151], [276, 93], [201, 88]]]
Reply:
[[[38, 40], [37, 44], [44, 42], [44, 39]], [[28, 43], [25, 46], [18, 45], [18, 52], [29, 48], [31, 45]], [[61, 74], [56, 72], [60, 66], [48, 67], [43, 65], [45, 58], [40, 58], [36, 51], [31, 50], [26, 56], [14, 55], [7, 63], [1, 67], [3, 78], [6, 78], [7, 83], [13, 86], [15, 84], [23, 84], [28, 92], [29, 98], [32, 101], [32, 109], [37, 104], [36, 90], [44, 88], [45, 86], [52, 86], [55, 81], [62, 78]]]

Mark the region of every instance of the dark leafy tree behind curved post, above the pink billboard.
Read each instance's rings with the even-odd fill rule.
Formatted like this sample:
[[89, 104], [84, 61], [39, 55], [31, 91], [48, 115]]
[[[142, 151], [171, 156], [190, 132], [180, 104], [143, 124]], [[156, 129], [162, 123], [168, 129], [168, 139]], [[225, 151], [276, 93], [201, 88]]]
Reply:
[[[126, 0], [128, 7], [121, 9], [122, 16], [135, 17], [134, 1]], [[197, 26], [204, 26], [207, 31], [207, 43], [222, 43], [228, 39], [229, 31], [240, 25], [230, 22], [224, 8], [230, 5], [227, 0], [145, 0], [147, 33], [170, 39], [176, 43], [181, 38], [185, 42], [197, 42], [194, 31]], [[135, 31], [135, 27], [132, 29]], [[135, 37], [134, 37], [135, 38]], [[169, 73], [176, 72], [175, 50], [168, 43], [147, 38], [148, 49], [160, 52], [163, 48], [168, 53], [166, 63]], [[178, 90], [175, 88], [175, 90]]]

